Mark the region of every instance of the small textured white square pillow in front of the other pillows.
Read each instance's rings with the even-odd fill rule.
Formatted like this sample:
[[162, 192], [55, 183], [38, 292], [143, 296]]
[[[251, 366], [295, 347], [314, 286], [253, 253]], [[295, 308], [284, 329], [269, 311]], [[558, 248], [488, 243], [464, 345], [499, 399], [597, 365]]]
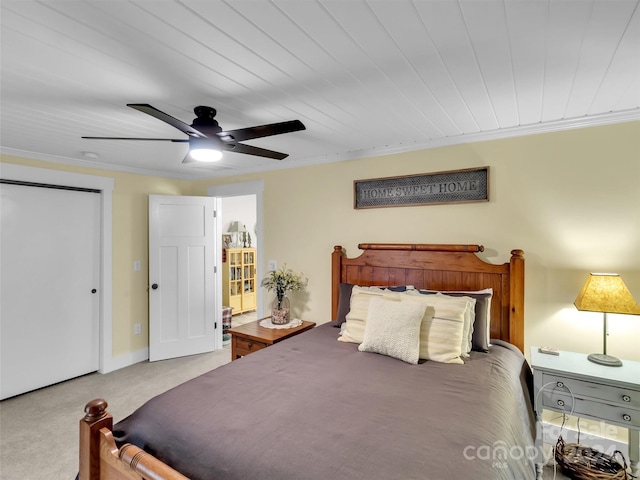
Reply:
[[420, 358], [420, 325], [426, 304], [399, 302], [381, 296], [369, 300], [361, 352], [394, 357], [413, 365]]

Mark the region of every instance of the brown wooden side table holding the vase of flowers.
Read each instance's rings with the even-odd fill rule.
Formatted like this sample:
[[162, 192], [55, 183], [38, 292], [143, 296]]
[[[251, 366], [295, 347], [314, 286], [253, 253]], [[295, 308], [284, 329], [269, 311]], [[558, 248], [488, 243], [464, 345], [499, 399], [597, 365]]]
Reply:
[[316, 326], [314, 322], [303, 320], [302, 325], [298, 327], [265, 328], [260, 326], [262, 320], [264, 318], [226, 331], [226, 333], [231, 334], [231, 361], [267, 348], [299, 333], [306, 332]]

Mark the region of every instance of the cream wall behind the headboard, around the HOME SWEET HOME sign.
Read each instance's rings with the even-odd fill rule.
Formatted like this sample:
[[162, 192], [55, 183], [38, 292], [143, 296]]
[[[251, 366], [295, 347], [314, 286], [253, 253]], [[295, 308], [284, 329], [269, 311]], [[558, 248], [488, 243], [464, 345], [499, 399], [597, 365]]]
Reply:
[[[488, 165], [490, 201], [353, 209], [356, 179]], [[602, 347], [602, 315], [573, 301], [590, 271], [622, 275], [640, 301], [640, 122], [470, 143], [195, 183], [264, 180], [264, 255], [309, 277], [298, 315], [330, 319], [330, 253], [359, 242], [479, 243], [525, 251], [525, 342]], [[266, 265], [263, 265], [266, 267]], [[265, 270], [266, 271], [266, 270]], [[610, 315], [609, 353], [640, 361], [640, 317]]]

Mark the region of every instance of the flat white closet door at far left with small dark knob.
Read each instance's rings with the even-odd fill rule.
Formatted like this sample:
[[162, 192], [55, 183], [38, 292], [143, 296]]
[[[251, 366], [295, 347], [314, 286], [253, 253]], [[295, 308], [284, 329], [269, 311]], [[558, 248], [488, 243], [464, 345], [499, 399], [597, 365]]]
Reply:
[[0, 185], [0, 398], [98, 369], [100, 201]]

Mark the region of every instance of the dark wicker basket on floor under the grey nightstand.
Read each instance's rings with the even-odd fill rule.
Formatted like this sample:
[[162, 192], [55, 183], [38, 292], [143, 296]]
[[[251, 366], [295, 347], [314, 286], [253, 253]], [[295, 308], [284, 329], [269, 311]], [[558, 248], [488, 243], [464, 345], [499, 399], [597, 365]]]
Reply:
[[[622, 463], [616, 457], [622, 459]], [[607, 455], [579, 443], [564, 443], [558, 437], [555, 459], [562, 472], [574, 480], [629, 480], [627, 462], [619, 450]]]

